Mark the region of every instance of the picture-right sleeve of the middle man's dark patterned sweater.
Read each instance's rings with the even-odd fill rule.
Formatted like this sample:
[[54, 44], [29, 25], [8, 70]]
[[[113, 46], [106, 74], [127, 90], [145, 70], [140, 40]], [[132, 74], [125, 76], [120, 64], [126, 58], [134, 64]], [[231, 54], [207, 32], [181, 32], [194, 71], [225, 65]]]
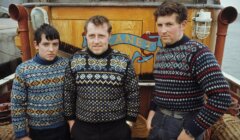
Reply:
[[127, 99], [127, 120], [135, 122], [139, 113], [140, 94], [137, 76], [131, 61], [128, 63], [124, 88]]

